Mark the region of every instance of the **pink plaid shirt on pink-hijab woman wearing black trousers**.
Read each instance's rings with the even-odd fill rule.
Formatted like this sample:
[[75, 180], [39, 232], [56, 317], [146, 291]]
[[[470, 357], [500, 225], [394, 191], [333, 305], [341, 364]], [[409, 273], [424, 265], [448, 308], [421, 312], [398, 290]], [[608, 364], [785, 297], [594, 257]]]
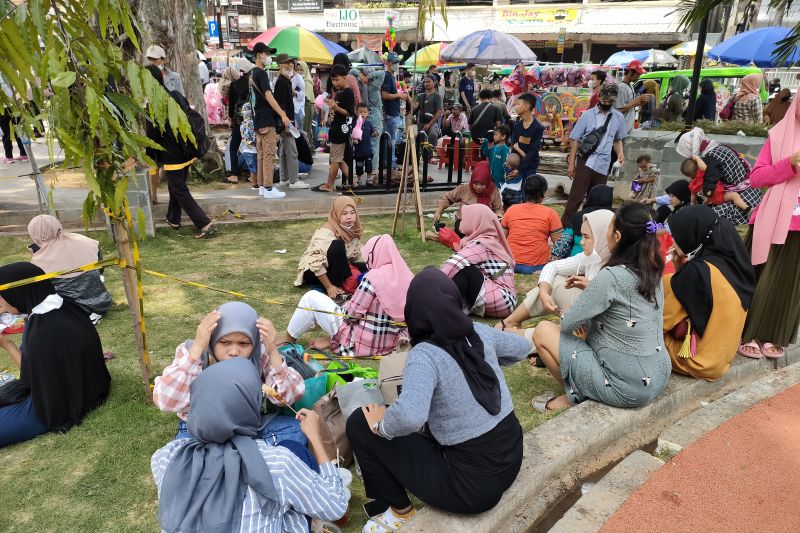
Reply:
[[450, 256], [441, 270], [452, 279], [461, 269], [469, 265], [478, 267], [483, 273], [483, 290], [472, 306], [471, 313], [494, 318], [505, 318], [510, 315], [517, 306], [514, 269], [505, 261], [491, 255], [489, 249], [480, 241], [469, 241], [461, 247], [461, 250]]

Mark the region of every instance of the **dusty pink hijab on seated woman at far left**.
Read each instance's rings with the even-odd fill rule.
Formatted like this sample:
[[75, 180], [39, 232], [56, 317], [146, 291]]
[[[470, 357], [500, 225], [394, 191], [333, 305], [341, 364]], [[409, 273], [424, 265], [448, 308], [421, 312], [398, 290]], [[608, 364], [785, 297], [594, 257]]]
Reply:
[[[54, 216], [33, 217], [28, 223], [28, 235], [39, 245], [31, 263], [46, 273], [71, 270], [98, 259], [100, 245], [96, 240], [78, 233], [64, 233], [61, 222]], [[74, 278], [81, 274], [83, 272], [61, 277]]]

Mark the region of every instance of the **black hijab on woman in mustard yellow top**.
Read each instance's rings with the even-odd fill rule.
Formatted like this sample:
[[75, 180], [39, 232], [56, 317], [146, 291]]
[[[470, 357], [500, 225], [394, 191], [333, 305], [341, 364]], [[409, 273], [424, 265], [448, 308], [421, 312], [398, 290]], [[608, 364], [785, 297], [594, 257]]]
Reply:
[[714, 306], [708, 263], [725, 276], [747, 311], [755, 290], [755, 274], [733, 224], [708, 206], [691, 205], [669, 217], [669, 229], [683, 253], [692, 255], [670, 284], [697, 334], [703, 336]]

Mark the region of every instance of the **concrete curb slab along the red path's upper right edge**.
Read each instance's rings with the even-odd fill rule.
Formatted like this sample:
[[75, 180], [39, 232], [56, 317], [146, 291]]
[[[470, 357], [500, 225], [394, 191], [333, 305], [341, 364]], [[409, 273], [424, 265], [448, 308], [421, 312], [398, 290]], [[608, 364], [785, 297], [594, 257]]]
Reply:
[[658, 438], [656, 454], [660, 457], [674, 457], [709, 431], [798, 383], [800, 383], [800, 363], [754, 381], [668, 427]]

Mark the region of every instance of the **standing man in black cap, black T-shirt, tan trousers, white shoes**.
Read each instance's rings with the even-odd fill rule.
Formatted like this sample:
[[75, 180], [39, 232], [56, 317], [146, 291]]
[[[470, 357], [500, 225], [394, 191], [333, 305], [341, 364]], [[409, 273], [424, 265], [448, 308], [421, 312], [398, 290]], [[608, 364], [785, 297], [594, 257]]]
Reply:
[[[272, 172], [275, 168], [275, 152], [278, 145], [278, 134], [275, 128], [276, 117], [288, 128], [291, 120], [286, 112], [281, 109], [272, 95], [272, 87], [264, 68], [272, 64], [276, 50], [264, 43], [256, 43], [253, 53], [256, 55], [256, 68], [250, 73], [250, 89], [255, 94], [256, 105], [254, 108], [253, 128], [256, 130], [256, 150], [258, 150], [258, 172], [256, 182], [258, 194], [266, 199], [283, 198], [286, 196], [272, 183]], [[292, 109], [294, 109], [292, 104]]]

